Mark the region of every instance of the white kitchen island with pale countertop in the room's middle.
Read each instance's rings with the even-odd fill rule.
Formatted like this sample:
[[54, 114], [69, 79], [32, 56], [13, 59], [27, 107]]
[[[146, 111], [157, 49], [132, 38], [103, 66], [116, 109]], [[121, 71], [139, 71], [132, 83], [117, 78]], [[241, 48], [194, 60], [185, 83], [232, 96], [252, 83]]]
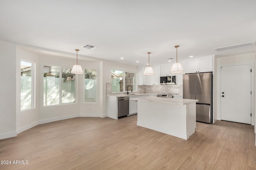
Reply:
[[156, 96], [131, 100], [138, 101], [138, 126], [182, 139], [195, 132], [198, 100]]

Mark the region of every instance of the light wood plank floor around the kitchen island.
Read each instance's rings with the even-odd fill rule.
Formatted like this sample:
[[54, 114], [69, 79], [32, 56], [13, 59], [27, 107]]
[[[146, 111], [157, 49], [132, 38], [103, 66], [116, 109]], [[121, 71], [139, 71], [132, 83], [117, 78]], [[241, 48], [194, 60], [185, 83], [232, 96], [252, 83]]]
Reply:
[[46, 123], [0, 140], [1, 170], [256, 170], [254, 127], [196, 123], [180, 139], [138, 127], [137, 115], [114, 120], [78, 117]]

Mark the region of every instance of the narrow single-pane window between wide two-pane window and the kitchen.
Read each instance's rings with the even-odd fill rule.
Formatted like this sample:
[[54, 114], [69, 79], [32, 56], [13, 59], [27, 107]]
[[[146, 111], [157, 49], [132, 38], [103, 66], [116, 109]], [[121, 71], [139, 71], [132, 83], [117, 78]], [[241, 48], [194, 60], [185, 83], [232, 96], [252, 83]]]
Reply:
[[84, 102], [97, 102], [97, 70], [84, 70]]

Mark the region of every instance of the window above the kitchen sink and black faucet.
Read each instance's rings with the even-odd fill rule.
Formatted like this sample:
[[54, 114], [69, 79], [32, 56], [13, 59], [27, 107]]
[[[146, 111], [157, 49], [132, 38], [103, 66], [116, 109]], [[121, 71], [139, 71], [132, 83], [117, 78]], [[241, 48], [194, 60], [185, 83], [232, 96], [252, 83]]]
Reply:
[[[112, 92], [125, 92], [136, 90], [136, 74], [134, 72], [124, 72], [112, 70]], [[132, 86], [132, 87], [131, 87]]]

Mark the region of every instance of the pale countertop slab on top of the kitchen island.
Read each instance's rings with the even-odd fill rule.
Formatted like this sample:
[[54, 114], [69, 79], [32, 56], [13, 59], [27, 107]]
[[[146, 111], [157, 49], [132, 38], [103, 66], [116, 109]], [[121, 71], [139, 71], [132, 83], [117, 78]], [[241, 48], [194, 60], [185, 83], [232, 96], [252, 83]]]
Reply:
[[138, 100], [138, 101], [145, 101], [145, 102], [158, 102], [158, 103], [165, 103], [165, 104], [176, 104], [176, 105], [186, 105], [191, 103], [196, 103], [198, 100], [192, 99], [182, 99], [182, 98], [161, 98], [156, 96], [148, 96], [142, 98], [132, 98], [130, 100]]

